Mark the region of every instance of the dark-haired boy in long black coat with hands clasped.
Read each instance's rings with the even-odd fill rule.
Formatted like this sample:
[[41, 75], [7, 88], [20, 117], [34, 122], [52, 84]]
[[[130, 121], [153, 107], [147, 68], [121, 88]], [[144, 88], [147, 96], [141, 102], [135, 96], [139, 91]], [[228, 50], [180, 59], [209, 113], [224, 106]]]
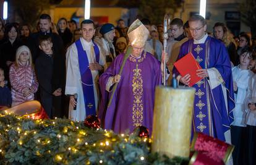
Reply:
[[39, 37], [40, 54], [35, 62], [41, 104], [49, 117], [62, 117], [62, 89], [65, 85], [65, 59], [53, 52], [51, 36]]

